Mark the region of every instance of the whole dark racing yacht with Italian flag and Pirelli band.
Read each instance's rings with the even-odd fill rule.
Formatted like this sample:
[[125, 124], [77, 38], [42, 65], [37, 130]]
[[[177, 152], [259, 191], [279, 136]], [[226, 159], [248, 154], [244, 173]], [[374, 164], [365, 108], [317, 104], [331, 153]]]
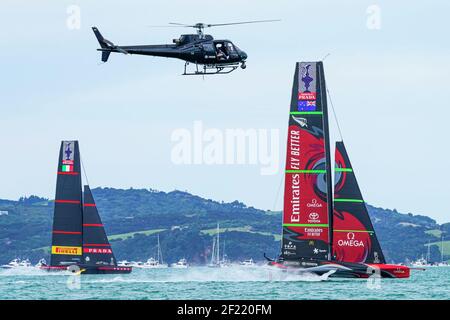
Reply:
[[[130, 273], [119, 266], [88, 185], [82, 191], [78, 141], [62, 141], [59, 151], [50, 265], [48, 271], [81, 274]], [[79, 270], [79, 271], [78, 271]]]

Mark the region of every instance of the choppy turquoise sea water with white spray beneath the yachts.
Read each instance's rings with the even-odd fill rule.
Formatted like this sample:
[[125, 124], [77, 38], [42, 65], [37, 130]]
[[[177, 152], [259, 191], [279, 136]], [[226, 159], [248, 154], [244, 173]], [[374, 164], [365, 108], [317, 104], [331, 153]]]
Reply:
[[409, 279], [340, 279], [270, 267], [134, 269], [123, 275], [0, 270], [0, 299], [450, 299], [450, 267]]

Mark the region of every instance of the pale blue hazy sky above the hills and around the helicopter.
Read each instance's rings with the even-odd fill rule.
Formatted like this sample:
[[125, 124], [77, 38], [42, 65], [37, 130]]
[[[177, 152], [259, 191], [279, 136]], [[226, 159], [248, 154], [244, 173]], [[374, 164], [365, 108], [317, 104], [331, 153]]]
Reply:
[[[0, 7], [2, 199], [53, 198], [60, 142], [76, 139], [91, 187], [177, 189], [281, 210], [295, 62], [325, 58], [365, 200], [450, 221], [448, 1], [229, 0], [217, 10], [216, 1], [200, 0], [3, 0]], [[204, 79], [181, 76], [181, 60], [112, 54], [101, 64], [91, 30], [119, 45], [159, 44], [194, 30], [151, 25], [263, 19], [281, 21], [207, 30], [249, 57], [245, 70]], [[213, 137], [278, 133], [271, 141], [278, 170], [262, 174], [260, 159], [177, 163], [174, 137], [195, 140], [199, 124]], [[333, 118], [330, 125], [339, 139]]]

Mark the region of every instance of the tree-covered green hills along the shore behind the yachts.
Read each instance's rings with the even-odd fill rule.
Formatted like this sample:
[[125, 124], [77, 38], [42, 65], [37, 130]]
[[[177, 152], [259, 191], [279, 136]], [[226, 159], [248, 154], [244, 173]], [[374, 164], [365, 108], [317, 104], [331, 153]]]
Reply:
[[[168, 262], [181, 257], [192, 263], [209, 259], [216, 224], [227, 255], [233, 260], [275, 257], [280, 248], [281, 213], [266, 212], [234, 201], [217, 202], [173, 191], [96, 188], [93, 194], [118, 259], [144, 260], [155, 254], [156, 234]], [[450, 224], [368, 206], [389, 261], [416, 259], [432, 243], [431, 259], [440, 259], [440, 236]], [[20, 257], [48, 257], [53, 202], [37, 196], [0, 200], [0, 263]], [[447, 238], [446, 238], [447, 239]], [[445, 246], [445, 255], [450, 254]]]

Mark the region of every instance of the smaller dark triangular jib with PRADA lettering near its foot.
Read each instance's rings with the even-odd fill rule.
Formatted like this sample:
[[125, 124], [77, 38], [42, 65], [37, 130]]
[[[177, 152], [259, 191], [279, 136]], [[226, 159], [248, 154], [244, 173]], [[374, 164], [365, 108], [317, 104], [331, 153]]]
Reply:
[[84, 186], [83, 264], [117, 265], [89, 186]]

